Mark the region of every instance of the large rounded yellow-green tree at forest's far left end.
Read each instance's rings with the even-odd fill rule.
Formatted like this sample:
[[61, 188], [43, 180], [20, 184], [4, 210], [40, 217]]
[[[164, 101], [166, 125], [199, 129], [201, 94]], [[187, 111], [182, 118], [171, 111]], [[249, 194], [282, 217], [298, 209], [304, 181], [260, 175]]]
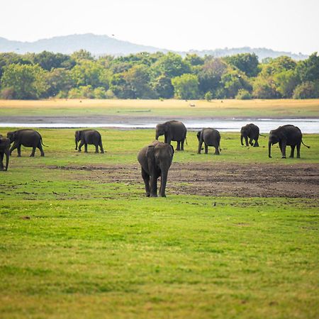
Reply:
[[39, 99], [47, 90], [45, 70], [39, 65], [8, 65], [1, 78], [1, 87], [13, 88], [14, 99]]

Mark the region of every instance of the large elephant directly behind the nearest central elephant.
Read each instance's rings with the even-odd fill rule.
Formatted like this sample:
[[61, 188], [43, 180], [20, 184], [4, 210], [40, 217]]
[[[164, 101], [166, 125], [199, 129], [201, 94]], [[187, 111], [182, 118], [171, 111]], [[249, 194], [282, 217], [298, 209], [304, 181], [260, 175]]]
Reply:
[[[177, 141], [176, 150], [184, 150], [184, 141], [186, 140], [187, 129], [180, 121], [168, 121], [156, 125], [155, 140], [158, 140], [160, 135], [164, 135], [164, 142], [171, 144], [171, 141]], [[187, 144], [187, 141], [186, 141]]]

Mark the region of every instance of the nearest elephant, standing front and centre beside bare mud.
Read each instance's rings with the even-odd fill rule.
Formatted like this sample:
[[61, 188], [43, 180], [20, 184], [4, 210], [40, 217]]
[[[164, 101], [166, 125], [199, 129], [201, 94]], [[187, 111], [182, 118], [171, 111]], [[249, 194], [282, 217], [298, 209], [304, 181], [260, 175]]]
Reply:
[[142, 179], [147, 197], [157, 197], [157, 179], [161, 177], [159, 196], [166, 197], [165, 188], [169, 167], [172, 164], [174, 148], [167, 143], [155, 140], [138, 153], [138, 162], [142, 169]]

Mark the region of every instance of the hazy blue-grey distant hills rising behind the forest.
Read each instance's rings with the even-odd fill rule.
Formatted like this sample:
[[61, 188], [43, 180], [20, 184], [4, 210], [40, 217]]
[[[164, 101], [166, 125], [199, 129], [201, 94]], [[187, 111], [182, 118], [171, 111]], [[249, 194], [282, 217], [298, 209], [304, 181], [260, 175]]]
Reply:
[[[130, 53], [138, 52], [169, 52], [169, 50], [161, 49], [159, 47], [151, 47], [147, 45], [137, 45], [128, 41], [117, 40], [111, 38], [108, 35], [94, 35], [91, 33], [81, 35], [65, 35], [58, 36], [50, 39], [42, 39], [34, 42], [21, 42], [7, 40], [0, 38], [0, 52], [42, 52], [44, 50], [51, 52], [60, 52], [65, 54], [71, 54], [77, 50], [87, 50], [93, 55], [129, 55]], [[172, 50], [171, 50], [172, 51]], [[295, 60], [303, 60], [308, 56], [299, 54], [293, 54], [291, 52], [279, 52], [266, 48], [251, 48], [251, 47], [237, 47], [237, 48], [225, 48], [216, 50], [190, 50], [188, 52], [177, 52], [181, 55], [186, 53], [196, 53], [197, 55], [214, 55], [216, 57], [223, 57], [225, 55], [235, 55], [237, 53], [254, 52], [259, 57], [259, 60], [265, 57], [279, 57], [280, 55], [288, 55]]]

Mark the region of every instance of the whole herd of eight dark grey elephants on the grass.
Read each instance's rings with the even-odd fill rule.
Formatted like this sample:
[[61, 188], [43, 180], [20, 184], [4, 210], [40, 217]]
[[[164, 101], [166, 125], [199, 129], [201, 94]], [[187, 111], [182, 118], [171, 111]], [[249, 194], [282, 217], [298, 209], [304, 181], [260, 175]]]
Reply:
[[[165, 188], [167, 184], [167, 174], [169, 167], [172, 164], [174, 155], [174, 147], [171, 142], [177, 142], [176, 150], [184, 150], [184, 142], [186, 142], [187, 129], [180, 121], [167, 121], [156, 126], [155, 141], [147, 145], [138, 153], [138, 162], [142, 169], [142, 179], [145, 183], [146, 195], [157, 197], [157, 179], [161, 177], [161, 185], [159, 187], [159, 196], [165, 196]], [[164, 142], [159, 142], [159, 136], [164, 135]], [[240, 142], [243, 144], [245, 139], [246, 146], [258, 147], [259, 128], [252, 123], [243, 126], [240, 130]], [[34, 157], [35, 150], [40, 150], [41, 156], [45, 156], [40, 133], [31, 129], [16, 130], [9, 132], [4, 138], [0, 135], [0, 170], [6, 171], [9, 165], [9, 156], [13, 150], [18, 151], [18, 157], [21, 156], [21, 145], [25, 147], [33, 147], [30, 157]], [[74, 135], [75, 150], [81, 152], [81, 147], [84, 145], [84, 152], [87, 152], [87, 145], [94, 145], [95, 152], [104, 152], [102, 145], [101, 134], [97, 130], [77, 130]], [[198, 139], [198, 154], [205, 147], [205, 154], [208, 153], [208, 146], [215, 148], [215, 154], [220, 154], [220, 133], [213, 128], [203, 128], [197, 133]], [[286, 158], [286, 146], [291, 147], [290, 157], [294, 156], [295, 148], [297, 157], [300, 158], [300, 147], [302, 133], [299, 128], [294, 125], [283, 125], [271, 130], [269, 133], [268, 155], [271, 156], [272, 145], [279, 143], [282, 158]], [[11, 144], [13, 145], [11, 146]], [[79, 146], [78, 146], [79, 143]], [[187, 142], [186, 142], [187, 143]], [[305, 145], [305, 144], [303, 144]], [[11, 146], [11, 148], [10, 148]], [[305, 145], [309, 148], [309, 146]], [[4, 166], [4, 155], [6, 155], [6, 164]]]

